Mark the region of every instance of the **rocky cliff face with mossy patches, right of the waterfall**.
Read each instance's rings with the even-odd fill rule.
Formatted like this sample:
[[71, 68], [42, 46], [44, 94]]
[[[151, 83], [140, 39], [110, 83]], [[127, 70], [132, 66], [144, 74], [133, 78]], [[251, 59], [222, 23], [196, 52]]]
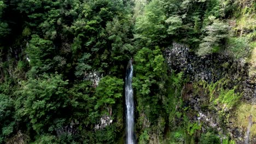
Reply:
[[[230, 136], [237, 143], [256, 142], [253, 124], [256, 83], [250, 71], [255, 65], [226, 55], [199, 57], [188, 46], [176, 42], [165, 50], [165, 57], [170, 69], [182, 71], [184, 77], [189, 77], [182, 90], [182, 100], [184, 106], [189, 107], [186, 114], [189, 121], [199, 123], [201, 133], [213, 130], [218, 131], [221, 141]], [[235, 89], [234, 93], [240, 94], [231, 108], [225, 106], [228, 103], [218, 101], [222, 97], [217, 92], [220, 88], [226, 93]]]

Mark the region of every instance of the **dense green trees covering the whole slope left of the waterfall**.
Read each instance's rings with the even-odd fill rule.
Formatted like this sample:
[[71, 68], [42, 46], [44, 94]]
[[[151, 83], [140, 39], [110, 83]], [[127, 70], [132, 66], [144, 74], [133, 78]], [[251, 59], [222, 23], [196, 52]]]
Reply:
[[[5, 123], [1, 119], [0, 143], [18, 130], [31, 140], [42, 134], [34, 143], [115, 142], [123, 128], [124, 63], [137, 50], [130, 4], [0, 1], [0, 93], [15, 104], [15, 109], [13, 104], [3, 108], [11, 114], [1, 117]], [[103, 77], [97, 89], [82, 80], [94, 70], [112, 75]], [[96, 136], [94, 126], [106, 107], [117, 124], [98, 130]], [[75, 132], [65, 136], [63, 129], [73, 122]], [[56, 137], [57, 130], [63, 130], [62, 138]]]

